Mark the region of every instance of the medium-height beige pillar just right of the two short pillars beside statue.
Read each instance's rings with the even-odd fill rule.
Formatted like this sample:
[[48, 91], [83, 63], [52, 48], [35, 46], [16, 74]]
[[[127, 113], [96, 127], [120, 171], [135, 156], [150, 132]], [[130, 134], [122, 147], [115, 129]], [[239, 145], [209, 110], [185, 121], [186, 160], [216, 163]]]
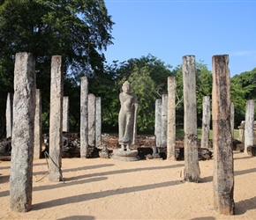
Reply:
[[176, 79], [168, 77], [168, 126], [167, 126], [167, 158], [176, 160], [175, 142], [176, 142]]

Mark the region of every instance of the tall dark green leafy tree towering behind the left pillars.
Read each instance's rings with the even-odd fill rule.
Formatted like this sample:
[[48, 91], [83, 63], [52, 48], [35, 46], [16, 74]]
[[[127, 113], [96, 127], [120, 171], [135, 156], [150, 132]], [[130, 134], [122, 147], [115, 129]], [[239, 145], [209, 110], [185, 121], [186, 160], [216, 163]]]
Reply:
[[[72, 96], [73, 92], [78, 92], [81, 76], [94, 76], [104, 70], [102, 51], [112, 44], [113, 25], [103, 0], [1, 1], [0, 74], [8, 75], [4, 79], [8, 82], [1, 82], [1, 88], [5, 86], [4, 92], [12, 91], [15, 54], [33, 53], [42, 111], [49, 114], [51, 56], [62, 55], [64, 93]], [[5, 106], [2, 101], [6, 96], [6, 93], [1, 94], [0, 106]], [[71, 97], [70, 100], [71, 106], [77, 106], [76, 103], [72, 105], [72, 100], [77, 99]], [[77, 111], [71, 109], [74, 118]]]

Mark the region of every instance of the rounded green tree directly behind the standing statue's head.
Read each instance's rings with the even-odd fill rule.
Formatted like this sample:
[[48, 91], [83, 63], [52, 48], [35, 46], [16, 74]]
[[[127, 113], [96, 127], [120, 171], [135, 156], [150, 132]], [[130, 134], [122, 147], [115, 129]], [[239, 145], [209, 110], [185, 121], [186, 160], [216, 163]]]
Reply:
[[111, 128], [117, 131], [119, 93], [124, 81], [128, 80], [132, 84], [132, 93], [139, 99], [139, 131], [153, 132], [155, 99], [167, 93], [167, 77], [172, 75], [170, 68], [153, 55], [147, 55], [127, 62], [114, 61], [105, 67], [103, 76], [92, 78], [92, 92], [102, 97], [104, 131], [108, 132]]

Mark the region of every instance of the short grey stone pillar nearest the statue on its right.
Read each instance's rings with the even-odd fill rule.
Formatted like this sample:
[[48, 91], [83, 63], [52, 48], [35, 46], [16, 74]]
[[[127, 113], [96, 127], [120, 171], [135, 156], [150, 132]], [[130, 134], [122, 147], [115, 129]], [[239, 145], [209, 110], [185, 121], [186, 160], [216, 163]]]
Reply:
[[162, 99], [155, 100], [154, 136], [157, 147], [162, 146]]

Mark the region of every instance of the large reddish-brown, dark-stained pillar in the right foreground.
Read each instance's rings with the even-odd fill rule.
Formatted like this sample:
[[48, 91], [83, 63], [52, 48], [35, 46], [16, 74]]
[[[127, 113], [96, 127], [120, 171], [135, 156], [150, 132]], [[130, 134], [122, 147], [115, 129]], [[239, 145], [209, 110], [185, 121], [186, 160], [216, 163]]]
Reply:
[[230, 128], [229, 55], [213, 56], [214, 204], [224, 215], [235, 213], [234, 165]]

